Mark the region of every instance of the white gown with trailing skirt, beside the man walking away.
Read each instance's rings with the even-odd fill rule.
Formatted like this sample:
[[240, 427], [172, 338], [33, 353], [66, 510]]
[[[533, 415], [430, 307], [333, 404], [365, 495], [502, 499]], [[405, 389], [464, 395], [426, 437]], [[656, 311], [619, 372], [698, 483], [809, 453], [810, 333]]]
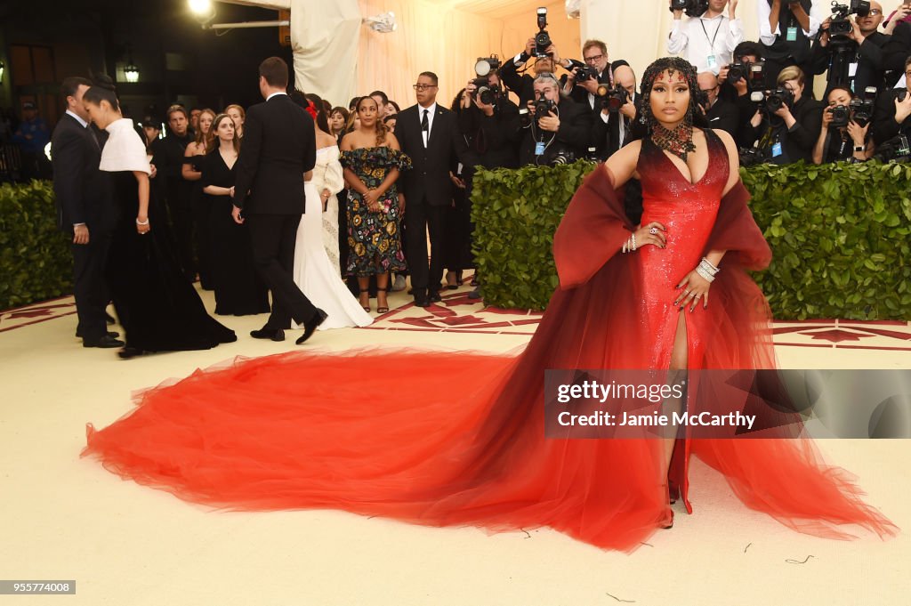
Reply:
[[[338, 148], [323, 149], [334, 149], [335, 163], [338, 163]], [[331, 153], [329, 157], [332, 157]], [[314, 174], [320, 169], [319, 158], [320, 154], [317, 152], [317, 166], [314, 169]], [[341, 174], [341, 167], [339, 174]], [[333, 190], [332, 187], [329, 189]], [[325, 321], [320, 324], [319, 330], [373, 324], [373, 317], [363, 311], [361, 303], [358, 303], [342, 281], [342, 276], [338, 269], [337, 236], [334, 248], [336, 251], [334, 265], [326, 253], [324, 230], [322, 228], [322, 203], [318, 191], [314, 181], [304, 182], [303, 192], [307, 200], [306, 210], [301, 217], [301, 225], [297, 228], [297, 242], [294, 248], [294, 282], [297, 283], [314, 305], [327, 314]], [[334, 195], [330, 197], [330, 202], [334, 197]], [[337, 213], [337, 202], [335, 208]]]

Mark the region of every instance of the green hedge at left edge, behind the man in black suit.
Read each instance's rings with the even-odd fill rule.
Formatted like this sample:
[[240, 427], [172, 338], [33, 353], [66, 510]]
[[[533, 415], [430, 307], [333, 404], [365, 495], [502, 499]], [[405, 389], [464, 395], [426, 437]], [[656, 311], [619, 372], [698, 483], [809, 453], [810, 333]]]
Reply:
[[0, 186], [0, 310], [73, 292], [73, 256], [49, 181]]

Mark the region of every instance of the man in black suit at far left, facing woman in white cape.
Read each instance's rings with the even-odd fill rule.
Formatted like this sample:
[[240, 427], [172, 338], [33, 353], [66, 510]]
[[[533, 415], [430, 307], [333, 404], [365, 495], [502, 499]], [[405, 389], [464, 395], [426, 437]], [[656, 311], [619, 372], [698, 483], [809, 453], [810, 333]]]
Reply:
[[82, 96], [92, 86], [84, 77], [67, 77], [60, 92], [67, 113], [51, 138], [57, 227], [73, 239], [73, 293], [79, 317], [76, 334], [83, 347], [123, 347], [107, 331], [105, 282], [107, 250], [117, 222], [107, 173], [101, 172], [101, 143], [88, 126]]

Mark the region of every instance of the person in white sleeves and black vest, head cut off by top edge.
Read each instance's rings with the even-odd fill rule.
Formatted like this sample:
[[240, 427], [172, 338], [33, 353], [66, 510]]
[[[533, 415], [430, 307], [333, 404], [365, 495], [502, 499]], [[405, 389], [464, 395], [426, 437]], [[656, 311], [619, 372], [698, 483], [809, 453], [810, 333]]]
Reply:
[[[810, 40], [823, 22], [817, 0], [757, 0], [759, 41], [763, 44], [768, 73], [778, 74], [784, 67], [800, 67], [810, 73]], [[813, 80], [808, 80], [813, 89]]]

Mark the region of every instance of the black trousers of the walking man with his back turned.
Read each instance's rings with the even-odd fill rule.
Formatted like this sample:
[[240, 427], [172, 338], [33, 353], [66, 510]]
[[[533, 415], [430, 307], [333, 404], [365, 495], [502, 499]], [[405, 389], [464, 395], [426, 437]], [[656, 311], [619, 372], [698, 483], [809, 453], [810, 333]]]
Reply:
[[294, 283], [294, 245], [301, 215], [252, 214], [250, 228], [253, 263], [262, 282], [272, 293], [272, 313], [264, 328], [291, 328], [310, 320], [316, 307]]

